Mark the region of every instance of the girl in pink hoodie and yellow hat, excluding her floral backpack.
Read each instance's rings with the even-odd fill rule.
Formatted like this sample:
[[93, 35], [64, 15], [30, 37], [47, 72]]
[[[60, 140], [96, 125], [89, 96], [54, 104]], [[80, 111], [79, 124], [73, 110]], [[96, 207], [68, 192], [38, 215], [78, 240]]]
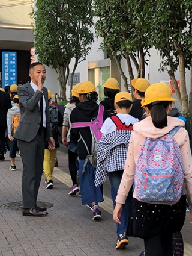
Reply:
[[[113, 219], [119, 223], [122, 205], [125, 203], [128, 192], [134, 182], [134, 174], [137, 158], [142, 143], [146, 138], [158, 139], [169, 133], [176, 126], [181, 126], [174, 138], [179, 145], [184, 172], [184, 195], [179, 202], [173, 205], [150, 204], [136, 199], [133, 192], [133, 205], [131, 209], [130, 224], [127, 235], [144, 239], [146, 256], [172, 256], [173, 239], [176, 231], [181, 231], [185, 221], [186, 193], [190, 205], [192, 205], [192, 158], [185, 123], [176, 117], [167, 114], [172, 109], [172, 90], [167, 84], [157, 83], [148, 87], [142, 107], [145, 108], [147, 118], [133, 126], [130, 145], [125, 161], [124, 174], [116, 197], [116, 207], [113, 211]], [[192, 207], [190, 210], [192, 224]], [[140, 254], [143, 255], [143, 254]]]

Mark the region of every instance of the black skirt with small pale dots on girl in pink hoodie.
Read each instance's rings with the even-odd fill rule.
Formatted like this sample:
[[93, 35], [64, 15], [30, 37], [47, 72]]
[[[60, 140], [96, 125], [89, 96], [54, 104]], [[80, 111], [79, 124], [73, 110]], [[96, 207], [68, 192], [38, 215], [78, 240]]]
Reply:
[[174, 205], [148, 204], [133, 198], [127, 235], [145, 239], [162, 232], [181, 231], [185, 214], [185, 195]]

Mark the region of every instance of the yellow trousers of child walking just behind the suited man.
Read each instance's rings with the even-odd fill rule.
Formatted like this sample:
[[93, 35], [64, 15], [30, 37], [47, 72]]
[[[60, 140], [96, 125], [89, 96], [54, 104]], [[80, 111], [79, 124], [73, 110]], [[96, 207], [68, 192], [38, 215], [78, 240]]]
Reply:
[[57, 149], [45, 149], [44, 150], [44, 161], [43, 161], [43, 169], [44, 175], [46, 176], [46, 180], [52, 180], [53, 169], [55, 166], [55, 156]]

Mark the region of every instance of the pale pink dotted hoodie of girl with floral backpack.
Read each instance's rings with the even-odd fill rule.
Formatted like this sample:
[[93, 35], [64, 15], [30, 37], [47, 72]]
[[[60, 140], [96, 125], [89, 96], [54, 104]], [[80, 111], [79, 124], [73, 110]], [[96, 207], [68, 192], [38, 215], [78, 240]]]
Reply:
[[[128, 192], [134, 181], [134, 170], [136, 168], [137, 158], [143, 140], [145, 140], [146, 137], [157, 139], [158, 137], [169, 133], [175, 126], [182, 126], [174, 137], [179, 144], [182, 154], [184, 191], [188, 194], [190, 205], [192, 204], [192, 158], [188, 133], [184, 128], [185, 123], [179, 118], [167, 117], [167, 125], [168, 126], [163, 129], [156, 128], [152, 123], [151, 116], [133, 125], [134, 131], [131, 134], [127, 159], [125, 161], [125, 169], [119, 186], [118, 195], [116, 196], [116, 202], [125, 204]], [[136, 197], [135, 192], [133, 192], [133, 197]]]

